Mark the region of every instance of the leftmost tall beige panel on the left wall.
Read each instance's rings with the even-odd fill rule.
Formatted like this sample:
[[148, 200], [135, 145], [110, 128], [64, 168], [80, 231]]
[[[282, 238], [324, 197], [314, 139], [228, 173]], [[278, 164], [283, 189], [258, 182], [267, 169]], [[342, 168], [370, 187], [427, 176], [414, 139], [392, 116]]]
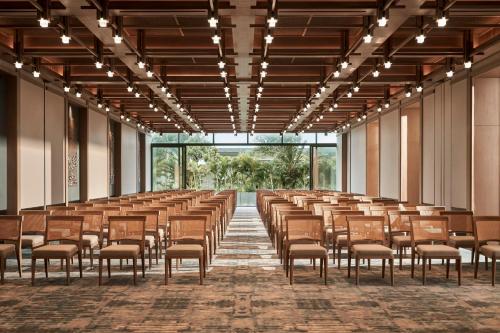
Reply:
[[43, 88], [20, 82], [19, 195], [20, 207], [44, 205]]

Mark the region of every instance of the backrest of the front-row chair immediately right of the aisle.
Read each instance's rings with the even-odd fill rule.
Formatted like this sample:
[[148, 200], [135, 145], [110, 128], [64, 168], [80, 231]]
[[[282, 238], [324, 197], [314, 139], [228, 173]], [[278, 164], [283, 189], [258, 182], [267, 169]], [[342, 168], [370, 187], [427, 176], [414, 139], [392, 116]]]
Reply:
[[288, 215], [285, 217], [287, 240], [310, 240], [323, 244], [323, 217], [316, 215]]

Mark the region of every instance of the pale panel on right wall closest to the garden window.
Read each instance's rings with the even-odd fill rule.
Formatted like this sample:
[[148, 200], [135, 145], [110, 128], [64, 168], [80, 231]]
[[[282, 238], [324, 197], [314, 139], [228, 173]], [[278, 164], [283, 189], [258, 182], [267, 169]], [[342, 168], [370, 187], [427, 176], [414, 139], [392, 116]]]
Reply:
[[366, 193], [366, 123], [351, 130], [351, 192]]

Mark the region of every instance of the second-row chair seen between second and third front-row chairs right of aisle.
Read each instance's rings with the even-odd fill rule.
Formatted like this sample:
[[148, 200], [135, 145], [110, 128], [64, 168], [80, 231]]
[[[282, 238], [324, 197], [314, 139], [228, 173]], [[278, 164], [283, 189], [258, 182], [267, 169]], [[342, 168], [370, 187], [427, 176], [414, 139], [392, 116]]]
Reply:
[[389, 214], [389, 247], [396, 245], [399, 269], [403, 269], [403, 252], [411, 248], [410, 216], [419, 216], [418, 211], [391, 210]]

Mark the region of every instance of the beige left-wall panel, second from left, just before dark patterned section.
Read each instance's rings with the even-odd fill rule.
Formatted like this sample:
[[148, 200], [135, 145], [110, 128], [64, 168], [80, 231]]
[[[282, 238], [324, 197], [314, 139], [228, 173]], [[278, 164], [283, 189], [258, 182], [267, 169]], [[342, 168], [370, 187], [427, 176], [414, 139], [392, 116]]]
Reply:
[[45, 91], [45, 201], [65, 202], [64, 97]]

